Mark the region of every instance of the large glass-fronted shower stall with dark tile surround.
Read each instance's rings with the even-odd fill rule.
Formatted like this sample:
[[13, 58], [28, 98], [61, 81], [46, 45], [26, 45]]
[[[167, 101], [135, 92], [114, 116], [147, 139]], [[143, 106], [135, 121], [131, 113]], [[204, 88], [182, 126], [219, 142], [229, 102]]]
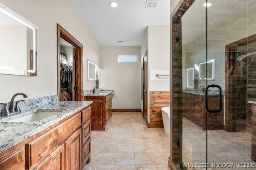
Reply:
[[171, 16], [172, 169], [256, 169], [256, 0], [183, 0]]

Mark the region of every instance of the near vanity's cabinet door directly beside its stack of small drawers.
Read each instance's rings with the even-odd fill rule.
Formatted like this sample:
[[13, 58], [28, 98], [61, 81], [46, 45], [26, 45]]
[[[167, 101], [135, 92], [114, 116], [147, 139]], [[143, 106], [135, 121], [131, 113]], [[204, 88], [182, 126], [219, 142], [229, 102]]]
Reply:
[[66, 170], [80, 170], [82, 168], [81, 142], [81, 128], [66, 140]]

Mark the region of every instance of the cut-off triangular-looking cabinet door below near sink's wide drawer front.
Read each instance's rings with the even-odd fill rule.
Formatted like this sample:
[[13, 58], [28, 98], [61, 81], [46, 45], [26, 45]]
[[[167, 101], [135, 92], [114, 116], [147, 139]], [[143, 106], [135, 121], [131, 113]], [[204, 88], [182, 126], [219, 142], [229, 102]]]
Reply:
[[65, 170], [65, 144], [60, 145], [34, 170]]

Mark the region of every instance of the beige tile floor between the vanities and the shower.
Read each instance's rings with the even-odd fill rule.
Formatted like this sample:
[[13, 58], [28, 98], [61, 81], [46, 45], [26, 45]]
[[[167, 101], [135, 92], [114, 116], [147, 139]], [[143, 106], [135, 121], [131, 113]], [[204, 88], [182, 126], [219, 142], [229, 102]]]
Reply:
[[91, 131], [91, 151], [83, 170], [169, 170], [170, 140], [140, 112], [114, 112], [105, 131]]

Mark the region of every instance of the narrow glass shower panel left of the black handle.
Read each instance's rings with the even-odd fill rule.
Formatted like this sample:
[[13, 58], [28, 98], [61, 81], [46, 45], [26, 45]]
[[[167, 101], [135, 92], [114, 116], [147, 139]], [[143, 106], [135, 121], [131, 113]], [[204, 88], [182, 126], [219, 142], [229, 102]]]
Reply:
[[[178, 122], [182, 123], [182, 147], [178, 146], [181, 148], [178, 150], [181, 153], [179, 162], [187, 169], [204, 169], [198, 165], [206, 164], [206, 8], [203, 6], [205, 2], [206, 0], [195, 0], [181, 17], [182, 97], [174, 113], [181, 113], [178, 115]], [[181, 62], [179, 57], [177, 62]]]

